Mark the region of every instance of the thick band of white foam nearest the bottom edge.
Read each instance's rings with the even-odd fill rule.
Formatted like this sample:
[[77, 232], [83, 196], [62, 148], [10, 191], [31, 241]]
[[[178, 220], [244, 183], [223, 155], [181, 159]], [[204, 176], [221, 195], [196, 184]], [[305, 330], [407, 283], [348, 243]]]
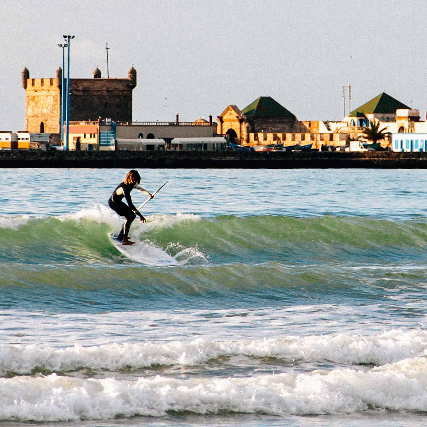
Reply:
[[275, 415], [352, 413], [367, 408], [427, 411], [427, 360], [368, 372], [351, 369], [213, 379], [136, 381], [57, 376], [0, 379], [0, 419], [60, 421], [167, 411]]

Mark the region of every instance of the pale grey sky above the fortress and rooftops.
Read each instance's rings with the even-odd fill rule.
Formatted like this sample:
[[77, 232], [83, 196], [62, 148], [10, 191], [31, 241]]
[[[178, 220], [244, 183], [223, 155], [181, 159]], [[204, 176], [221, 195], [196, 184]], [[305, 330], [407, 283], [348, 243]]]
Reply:
[[[381, 92], [424, 120], [427, 1], [2, 0], [0, 130], [25, 130], [30, 78], [56, 76], [62, 35], [70, 78], [137, 70], [134, 121], [215, 119], [270, 96], [298, 120], [342, 120]], [[345, 102], [344, 102], [345, 101]]]

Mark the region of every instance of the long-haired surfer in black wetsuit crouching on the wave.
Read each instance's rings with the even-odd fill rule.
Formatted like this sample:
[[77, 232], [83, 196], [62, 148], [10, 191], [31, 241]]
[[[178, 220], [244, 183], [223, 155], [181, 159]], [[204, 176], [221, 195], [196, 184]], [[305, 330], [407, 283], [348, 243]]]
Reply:
[[[140, 174], [136, 170], [130, 170], [125, 176], [123, 182], [117, 186], [113, 191], [113, 194], [111, 194], [110, 199], [108, 199], [108, 206], [113, 211], [116, 211], [120, 216], [124, 216], [126, 218], [126, 222], [117, 236], [117, 239], [122, 241], [122, 245], [133, 245], [135, 243], [128, 239], [128, 234], [132, 221], [136, 216], [139, 215], [140, 221], [145, 222], [145, 218], [132, 203], [131, 191], [136, 188], [142, 193], [146, 193], [151, 199], [154, 197], [145, 188], [140, 186], [140, 182]], [[123, 197], [126, 199], [126, 202], [128, 202], [127, 205], [122, 202]]]

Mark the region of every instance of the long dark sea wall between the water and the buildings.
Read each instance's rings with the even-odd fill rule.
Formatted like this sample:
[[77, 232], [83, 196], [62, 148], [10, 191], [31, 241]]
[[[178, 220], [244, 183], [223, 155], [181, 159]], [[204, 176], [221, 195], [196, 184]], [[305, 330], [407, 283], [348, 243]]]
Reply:
[[0, 150], [0, 168], [427, 168], [427, 152]]

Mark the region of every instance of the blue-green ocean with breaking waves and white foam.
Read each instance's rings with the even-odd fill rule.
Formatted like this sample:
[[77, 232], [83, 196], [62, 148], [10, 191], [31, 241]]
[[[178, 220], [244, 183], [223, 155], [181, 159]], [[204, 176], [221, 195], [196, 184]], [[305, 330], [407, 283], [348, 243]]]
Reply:
[[0, 169], [0, 427], [427, 423], [426, 170], [127, 172]]

